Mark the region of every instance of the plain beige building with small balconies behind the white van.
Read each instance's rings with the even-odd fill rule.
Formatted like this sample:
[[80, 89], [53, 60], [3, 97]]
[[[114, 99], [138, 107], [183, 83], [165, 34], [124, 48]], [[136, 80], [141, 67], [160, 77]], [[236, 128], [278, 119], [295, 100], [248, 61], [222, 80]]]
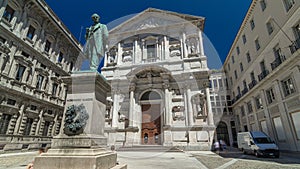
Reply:
[[237, 131], [300, 151], [300, 1], [253, 0], [223, 69]]

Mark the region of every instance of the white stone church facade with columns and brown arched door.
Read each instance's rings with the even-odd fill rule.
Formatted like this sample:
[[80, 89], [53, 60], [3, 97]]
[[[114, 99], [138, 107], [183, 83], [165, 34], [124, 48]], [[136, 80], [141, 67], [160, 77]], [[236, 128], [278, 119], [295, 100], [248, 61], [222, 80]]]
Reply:
[[214, 121], [205, 19], [149, 8], [109, 32], [109, 144], [210, 149]]

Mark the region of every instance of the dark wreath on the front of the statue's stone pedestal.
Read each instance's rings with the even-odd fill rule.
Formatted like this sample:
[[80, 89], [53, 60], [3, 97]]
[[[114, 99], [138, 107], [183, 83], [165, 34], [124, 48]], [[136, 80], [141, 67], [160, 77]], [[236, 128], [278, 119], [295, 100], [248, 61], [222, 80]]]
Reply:
[[89, 115], [83, 104], [69, 106], [64, 120], [64, 133], [68, 136], [82, 134], [88, 119]]

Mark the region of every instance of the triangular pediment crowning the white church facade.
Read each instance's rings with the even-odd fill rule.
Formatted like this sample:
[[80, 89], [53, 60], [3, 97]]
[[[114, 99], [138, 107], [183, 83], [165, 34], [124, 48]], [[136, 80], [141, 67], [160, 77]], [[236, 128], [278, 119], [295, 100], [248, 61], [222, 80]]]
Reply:
[[114, 34], [149, 28], [163, 28], [165, 26], [186, 23], [191, 20], [204, 21], [204, 18], [149, 8], [113, 28], [110, 33]]

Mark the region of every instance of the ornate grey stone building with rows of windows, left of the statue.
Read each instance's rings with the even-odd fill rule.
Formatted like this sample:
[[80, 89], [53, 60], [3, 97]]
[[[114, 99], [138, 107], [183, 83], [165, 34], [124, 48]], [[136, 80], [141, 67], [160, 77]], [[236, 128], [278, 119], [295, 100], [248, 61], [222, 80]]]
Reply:
[[0, 1], [0, 150], [50, 145], [80, 51], [43, 0]]

